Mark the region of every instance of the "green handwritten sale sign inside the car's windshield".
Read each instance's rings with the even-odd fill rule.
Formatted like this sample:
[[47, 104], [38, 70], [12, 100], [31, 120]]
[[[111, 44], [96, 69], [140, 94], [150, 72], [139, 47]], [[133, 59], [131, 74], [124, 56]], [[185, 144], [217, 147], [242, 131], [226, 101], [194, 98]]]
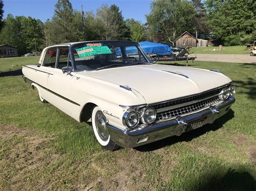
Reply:
[[97, 54], [112, 54], [111, 50], [107, 46], [86, 46], [76, 49], [79, 58]]

